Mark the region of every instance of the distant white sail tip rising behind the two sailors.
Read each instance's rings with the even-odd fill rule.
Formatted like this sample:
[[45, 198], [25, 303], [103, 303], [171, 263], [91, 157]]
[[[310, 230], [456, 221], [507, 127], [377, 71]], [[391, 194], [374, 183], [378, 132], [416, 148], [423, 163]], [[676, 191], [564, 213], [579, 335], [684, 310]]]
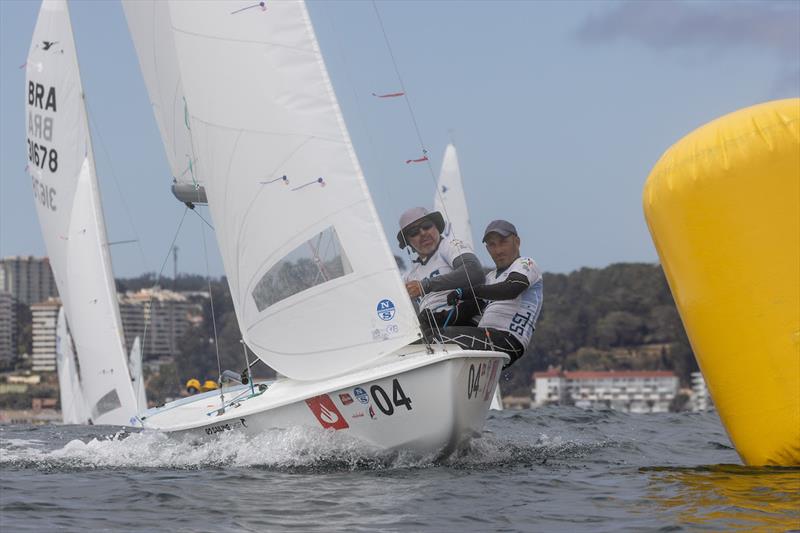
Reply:
[[472, 225], [469, 221], [467, 199], [461, 183], [456, 147], [448, 144], [444, 151], [442, 170], [439, 172], [438, 189], [433, 197], [434, 209], [442, 213], [447, 221], [445, 233], [453, 235], [475, 249], [472, 243]]

